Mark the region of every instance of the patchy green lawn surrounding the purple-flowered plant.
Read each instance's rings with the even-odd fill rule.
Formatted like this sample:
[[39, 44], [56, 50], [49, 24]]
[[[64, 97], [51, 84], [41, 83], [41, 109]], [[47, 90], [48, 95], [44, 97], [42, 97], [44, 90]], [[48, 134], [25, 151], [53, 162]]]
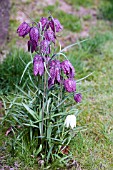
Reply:
[[[65, 9], [62, 10], [58, 2], [55, 5], [49, 4], [48, 6], [41, 6], [40, 3], [37, 7], [33, 6], [35, 10], [32, 13], [34, 12], [34, 15], [30, 13], [30, 16], [36, 16], [33, 19], [38, 19], [40, 16], [47, 16], [49, 10], [54, 17], [58, 17], [64, 26], [64, 31], [60, 37], [62, 46], [77, 42], [76, 46], [65, 52], [76, 70], [76, 79], [79, 80], [91, 74], [81, 80], [77, 87], [78, 91], [82, 93], [82, 102], [77, 105], [77, 109], [80, 111], [77, 116], [77, 127], [82, 127], [82, 129], [76, 133], [70, 144], [73, 159], [76, 160], [76, 168], [73, 166], [71, 168], [77, 170], [80, 168], [82, 170], [112, 170], [113, 20], [111, 1], [101, 0], [98, 3], [97, 1], [92, 3], [90, 0], [83, 2], [77, 0], [76, 4], [73, 0], [63, 2], [67, 2], [69, 13], [66, 13]], [[26, 50], [26, 47], [24, 47], [25, 40], [23, 42], [15, 33], [19, 25], [15, 16], [17, 16], [17, 6], [22, 9], [25, 6], [25, 10], [27, 10], [27, 8], [30, 8], [31, 1], [20, 4], [20, 2], [12, 0], [11, 3], [10, 42], [7, 44], [9, 54], [0, 65], [0, 100], [4, 98], [6, 100], [13, 99], [15, 93], [20, 93], [15, 85], [26, 90], [28, 74], [24, 75], [21, 84], [20, 77], [25, 63], [30, 60], [30, 54], [24, 51], [24, 49]], [[32, 3], [32, 5], [34, 4]], [[83, 8], [83, 11], [80, 12], [81, 8]], [[110, 12], [108, 12], [109, 8]], [[92, 14], [94, 9], [96, 15]], [[40, 10], [38, 15], [37, 10]], [[82, 14], [82, 12], [85, 14]], [[88, 37], [82, 36], [83, 32], [85, 32], [85, 35], [87, 33]], [[81, 42], [82, 40], [85, 41]], [[2, 121], [4, 108], [1, 108], [0, 111]], [[26, 153], [22, 154], [18, 151], [18, 155], [11, 157], [8, 137], [5, 136], [7, 128], [8, 125], [1, 128], [0, 168], [38, 169], [37, 160], [29, 155], [29, 148], [27, 148]], [[59, 162], [54, 162], [49, 167], [49, 169], [58, 168], [66, 169]]]

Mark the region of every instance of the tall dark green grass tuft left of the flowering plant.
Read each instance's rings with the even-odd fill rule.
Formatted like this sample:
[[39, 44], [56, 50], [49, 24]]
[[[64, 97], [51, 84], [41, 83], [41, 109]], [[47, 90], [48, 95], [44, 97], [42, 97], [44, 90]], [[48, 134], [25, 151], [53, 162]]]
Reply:
[[[16, 91], [16, 85], [25, 86], [27, 74], [20, 84], [25, 65], [30, 61], [30, 55], [23, 50], [12, 49], [7, 58], [0, 64], [0, 93]], [[32, 69], [32, 68], [31, 68]]]

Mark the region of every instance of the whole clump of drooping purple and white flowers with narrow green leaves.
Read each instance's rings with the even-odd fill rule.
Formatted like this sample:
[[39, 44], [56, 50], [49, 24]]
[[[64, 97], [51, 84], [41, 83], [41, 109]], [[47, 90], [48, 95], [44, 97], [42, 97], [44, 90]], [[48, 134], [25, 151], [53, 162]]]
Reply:
[[[27, 151], [28, 155], [38, 157], [41, 165], [56, 159], [67, 164], [72, 159], [69, 143], [80, 128], [76, 127], [79, 112], [75, 104], [81, 102], [82, 95], [77, 91], [75, 69], [64, 54], [76, 43], [60, 47], [57, 52], [57, 34], [62, 29], [59, 20], [52, 16], [19, 26], [17, 33], [20, 37], [29, 34], [28, 51], [35, 54], [20, 79], [22, 82], [27, 73], [25, 82], [29, 83], [27, 90], [16, 85], [18, 94], [2, 98], [5, 108], [2, 125], [9, 126], [6, 136], [12, 154]], [[34, 75], [29, 67], [32, 65]]]

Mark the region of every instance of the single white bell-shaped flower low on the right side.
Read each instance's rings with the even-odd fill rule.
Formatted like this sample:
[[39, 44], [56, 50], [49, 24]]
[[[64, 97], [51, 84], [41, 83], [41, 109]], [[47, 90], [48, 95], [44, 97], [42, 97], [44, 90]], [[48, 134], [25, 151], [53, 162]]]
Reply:
[[75, 115], [68, 115], [65, 119], [64, 125], [68, 128], [69, 126], [71, 126], [71, 128], [73, 129], [74, 127], [76, 127], [76, 116]]

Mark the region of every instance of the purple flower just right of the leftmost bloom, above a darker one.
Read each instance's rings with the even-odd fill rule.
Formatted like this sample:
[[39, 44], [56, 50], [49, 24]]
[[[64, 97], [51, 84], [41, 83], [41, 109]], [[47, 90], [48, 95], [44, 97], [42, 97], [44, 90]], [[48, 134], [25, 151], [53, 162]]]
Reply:
[[32, 27], [29, 36], [30, 36], [30, 40], [35, 41], [37, 43], [40, 37], [38, 28]]

